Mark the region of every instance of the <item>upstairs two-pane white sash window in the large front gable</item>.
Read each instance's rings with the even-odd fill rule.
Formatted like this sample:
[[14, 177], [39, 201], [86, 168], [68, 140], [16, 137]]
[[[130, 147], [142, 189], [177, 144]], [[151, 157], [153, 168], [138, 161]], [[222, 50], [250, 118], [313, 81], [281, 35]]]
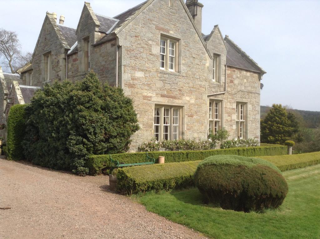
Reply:
[[160, 39], [160, 69], [178, 71], [179, 42], [161, 36]]

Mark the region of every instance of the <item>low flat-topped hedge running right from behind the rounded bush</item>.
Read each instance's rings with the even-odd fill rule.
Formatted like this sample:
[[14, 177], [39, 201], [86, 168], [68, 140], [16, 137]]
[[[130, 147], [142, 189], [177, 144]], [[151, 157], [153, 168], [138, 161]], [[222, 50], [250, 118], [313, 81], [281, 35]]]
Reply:
[[320, 152], [259, 157], [274, 163], [281, 171], [303, 168], [320, 163]]

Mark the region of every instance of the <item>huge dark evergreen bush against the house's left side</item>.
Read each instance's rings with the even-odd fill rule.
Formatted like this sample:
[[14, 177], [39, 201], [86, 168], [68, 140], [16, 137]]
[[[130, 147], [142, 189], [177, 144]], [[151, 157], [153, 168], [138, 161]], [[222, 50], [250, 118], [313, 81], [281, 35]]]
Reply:
[[31, 102], [24, 151], [45, 167], [87, 174], [88, 155], [126, 152], [139, 129], [132, 100], [92, 71], [76, 83], [45, 85]]

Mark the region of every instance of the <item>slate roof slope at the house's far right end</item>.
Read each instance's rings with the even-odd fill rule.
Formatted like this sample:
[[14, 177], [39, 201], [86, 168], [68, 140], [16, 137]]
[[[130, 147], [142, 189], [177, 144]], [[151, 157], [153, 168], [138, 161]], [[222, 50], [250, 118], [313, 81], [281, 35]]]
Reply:
[[250, 56], [248, 56], [238, 45], [236, 45], [231, 39], [226, 36], [224, 38], [227, 46], [227, 65], [241, 68], [244, 70], [259, 72], [266, 74], [264, 71]]

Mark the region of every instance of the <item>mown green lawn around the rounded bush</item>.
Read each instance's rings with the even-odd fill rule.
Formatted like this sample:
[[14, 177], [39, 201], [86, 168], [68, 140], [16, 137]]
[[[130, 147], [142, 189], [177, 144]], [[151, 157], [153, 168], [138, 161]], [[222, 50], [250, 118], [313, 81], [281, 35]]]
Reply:
[[279, 210], [244, 213], [202, 204], [196, 188], [137, 196], [148, 211], [212, 238], [320, 238], [320, 164], [283, 172], [289, 193]]

